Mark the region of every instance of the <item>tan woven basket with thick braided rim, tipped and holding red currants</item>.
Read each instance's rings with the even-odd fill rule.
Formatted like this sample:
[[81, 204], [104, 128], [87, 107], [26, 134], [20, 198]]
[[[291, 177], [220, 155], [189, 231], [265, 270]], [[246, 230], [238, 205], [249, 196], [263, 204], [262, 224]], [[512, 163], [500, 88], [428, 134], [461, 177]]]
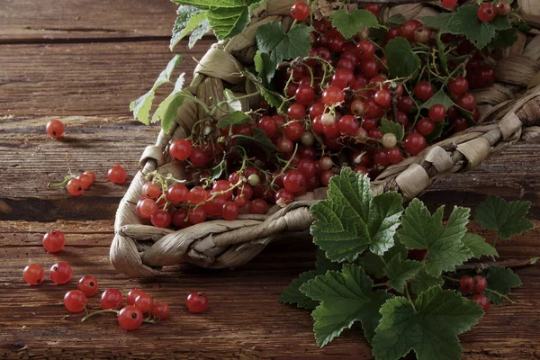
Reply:
[[[529, 2], [531, 11], [536, 11], [533, 2]], [[214, 44], [195, 68], [188, 90], [203, 101], [222, 100], [224, 87], [236, 94], [253, 93], [254, 86], [239, 70], [253, 63], [257, 27], [281, 22], [288, 29], [293, 23], [289, 15], [293, 3], [293, 0], [268, 1], [253, 14], [245, 31]], [[526, 11], [529, 3], [522, 4]], [[331, 4], [320, 1], [323, 15], [331, 8]], [[437, 6], [399, 4], [390, 14], [403, 14], [410, 19], [437, 12]], [[411, 199], [437, 178], [479, 166], [492, 153], [519, 139], [540, 139], [540, 127], [535, 126], [540, 124], [540, 85], [527, 90], [531, 79], [540, 71], [540, 36], [519, 33], [518, 42], [503, 52], [495, 69], [496, 84], [475, 92], [483, 114], [481, 124], [388, 167], [372, 182], [374, 193], [397, 191], [405, 199]], [[249, 103], [243, 105], [246, 110], [249, 108]], [[184, 178], [183, 167], [168, 156], [167, 146], [171, 140], [187, 137], [200, 116], [202, 109], [193, 101], [185, 101], [172, 130], [168, 133], [162, 130], [156, 145], [148, 146], [142, 154], [142, 169], [134, 177], [116, 214], [110, 256], [112, 265], [121, 273], [152, 276], [159, 274], [162, 266], [183, 261], [209, 268], [240, 266], [276, 238], [309, 235], [306, 230], [312, 221], [310, 206], [324, 196], [324, 191], [307, 193], [284, 208], [276, 205], [266, 215], [241, 215], [233, 221], [211, 220], [177, 231], [140, 223], [136, 203], [141, 197], [144, 175], [157, 170]]]

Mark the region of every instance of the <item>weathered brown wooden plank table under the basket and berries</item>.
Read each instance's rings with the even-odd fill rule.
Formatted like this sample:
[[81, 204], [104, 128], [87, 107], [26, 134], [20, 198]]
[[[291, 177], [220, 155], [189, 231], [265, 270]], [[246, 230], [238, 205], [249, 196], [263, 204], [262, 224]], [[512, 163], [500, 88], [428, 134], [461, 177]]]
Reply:
[[[155, 279], [117, 274], [108, 260], [113, 215], [128, 184], [106, 181], [120, 163], [133, 175], [142, 149], [157, 126], [132, 121], [131, 100], [152, 85], [168, 51], [175, 5], [167, 0], [4, 0], [0, 2], [0, 356], [6, 359], [152, 358], [372, 358], [361, 329], [347, 330], [328, 347], [315, 346], [309, 311], [277, 302], [295, 275], [313, 266], [314, 247], [294, 239], [268, 247], [247, 266], [208, 271], [193, 266], [169, 269]], [[211, 45], [178, 46], [183, 70]], [[188, 76], [190, 77], [190, 76]], [[60, 118], [65, 139], [45, 133]], [[423, 200], [432, 205], [475, 205], [486, 193], [533, 202], [540, 219], [540, 146], [521, 143], [475, 171], [433, 186]], [[94, 186], [73, 198], [48, 189], [69, 171], [92, 169]], [[540, 224], [540, 222], [536, 222]], [[41, 237], [61, 229], [67, 247], [47, 254]], [[483, 234], [490, 238], [491, 233]], [[504, 258], [540, 255], [536, 228], [500, 241]], [[58, 260], [74, 268], [63, 286], [23, 283], [30, 262], [49, 267]], [[62, 305], [64, 293], [81, 275], [95, 275], [102, 289], [142, 288], [172, 305], [172, 316], [157, 326], [122, 330], [113, 316], [81, 323]], [[540, 357], [540, 267], [518, 270], [524, 285], [516, 305], [495, 306], [462, 336], [466, 359]], [[210, 297], [202, 315], [186, 311], [187, 293]], [[98, 300], [91, 299], [91, 308]]]

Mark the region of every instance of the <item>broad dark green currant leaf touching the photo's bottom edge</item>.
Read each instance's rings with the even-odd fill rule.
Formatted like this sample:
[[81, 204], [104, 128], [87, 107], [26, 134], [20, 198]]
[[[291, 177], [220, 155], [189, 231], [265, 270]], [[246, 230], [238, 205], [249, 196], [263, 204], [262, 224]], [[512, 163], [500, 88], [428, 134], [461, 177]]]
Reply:
[[377, 360], [398, 360], [414, 350], [419, 360], [460, 359], [457, 335], [482, 318], [482, 307], [440, 286], [421, 293], [414, 308], [404, 297], [388, 300], [372, 341]]

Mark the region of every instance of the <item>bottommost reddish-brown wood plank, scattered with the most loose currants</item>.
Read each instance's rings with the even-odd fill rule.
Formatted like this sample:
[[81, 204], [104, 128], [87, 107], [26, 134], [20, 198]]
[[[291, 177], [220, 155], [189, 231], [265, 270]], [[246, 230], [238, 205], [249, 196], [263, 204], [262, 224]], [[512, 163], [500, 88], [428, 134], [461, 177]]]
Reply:
[[[505, 258], [540, 255], [536, 229], [513, 240], [502, 240]], [[62, 229], [67, 247], [58, 255], [44, 252], [44, 231]], [[490, 235], [482, 233], [482, 235]], [[9, 359], [71, 359], [130, 357], [168, 359], [371, 359], [370, 348], [359, 327], [347, 330], [328, 347], [315, 346], [309, 311], [280, 304], [277, 299], [295, 275], [310, 269], [314, 247], [309, 241], [275, 243], [254, 261], [235, 270], [209, 271], [193, 266], [171, 267], [151, 280], [129, 279], [116, 274], [108, 262], [112, 221], [0, 222], [0, 356]], [[21, 271], [30, 261], [50, 266], [67, 261], [74, 278], [67, 285], [47, 281], [40, 287], [23, 284]], [[125, 332], [112, 316], [80, 323], [80, 314], [69, 315], [63, 294], [75, 287], [81, 275], [97, 277], [101, 288], [122, 292], [142, 288], [171, 304], [166, 323]], [[516, 305], [493, 306], [491, 311], [461, 337], [464, 359], [534, 359], [540, 340], [540, 267], [518, 269], [524, 285], [512, 294]], [[227, 284], [226, 287], [223, 284]], [[193, 315], [184, 308], [184, 297], [202, 290], [210, 297], [209, 311]], [[90, 300], [98, 306], [97, 297]], [[277, 356], [277, 357], [276, 357]], [[280, 357], [281, 356], [281, 357]]]

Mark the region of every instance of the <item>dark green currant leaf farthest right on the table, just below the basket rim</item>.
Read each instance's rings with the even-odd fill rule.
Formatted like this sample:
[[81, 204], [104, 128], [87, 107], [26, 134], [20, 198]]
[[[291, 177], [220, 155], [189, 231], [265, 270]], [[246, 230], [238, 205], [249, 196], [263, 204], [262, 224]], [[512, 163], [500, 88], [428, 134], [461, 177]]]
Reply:
[[500, 238], [511, 238], [534, 225], [526, 219], [531, 202], [506, 202], [499, 196], [490, 195], [476, 208], [474, 220], [485, 229], [496, 229]]

